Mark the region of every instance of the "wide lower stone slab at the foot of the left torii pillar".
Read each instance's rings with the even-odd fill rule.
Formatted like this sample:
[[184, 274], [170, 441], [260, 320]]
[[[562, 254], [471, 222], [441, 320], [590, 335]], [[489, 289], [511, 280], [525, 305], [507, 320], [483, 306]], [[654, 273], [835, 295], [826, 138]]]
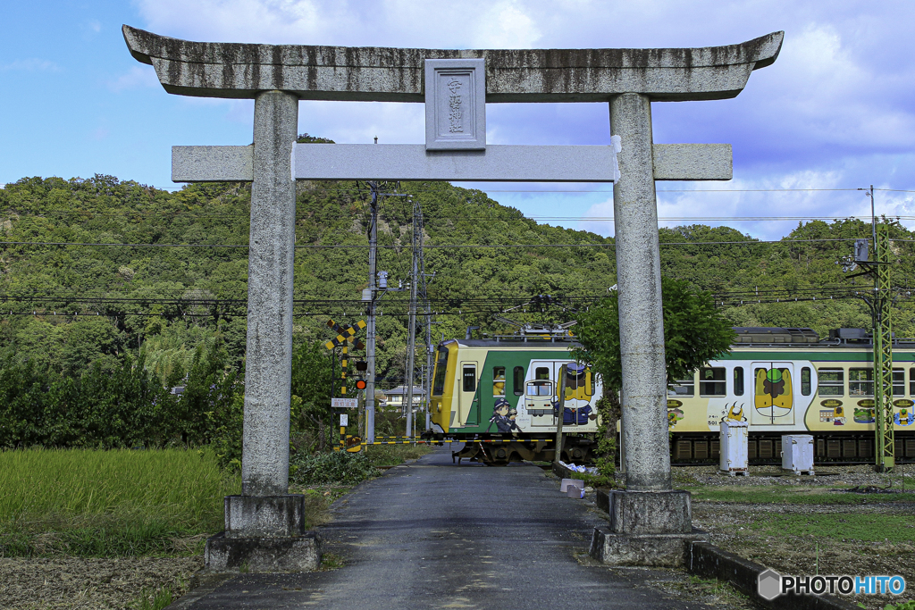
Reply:
[[204, 560], [210, 572], [310, 572], [321, 565], [321, 546], [314, 531], [288, 538], [227, 538], [221, 532], [207, 540]]

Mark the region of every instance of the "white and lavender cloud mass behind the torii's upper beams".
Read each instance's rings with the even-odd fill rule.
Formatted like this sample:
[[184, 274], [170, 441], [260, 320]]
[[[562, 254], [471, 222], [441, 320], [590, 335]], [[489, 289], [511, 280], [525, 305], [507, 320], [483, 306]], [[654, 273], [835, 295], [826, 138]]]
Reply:
[[[915, 37], [910, 34], [915, 3], [910, 0], [136, 0], [136, 5], [145, 19], [145, 24], [137, 25], [159, 34], [264, 43], [702, 47], [783, 29], [780, 58], [754, 72], [737, 99], [654, 104], [657, 142], [734, 144], [735, 180], [684, 187], [854, 188], [874, 183], [915, 189], [915, 106], [911, 103], [915, 64], [910, 60], [915, 50]], [[139, 70], [152, 73], [146, 67]], [[122, 88], [143, 86], [138, 73], [117, 82]], [[188, 104], [207, 103], [225, 106], [228, 122], [251, 121], [250, 102], [188, 99]], [[487, 118], [492, 144], [606, 144], [608, 139], [606, 103], [493, 104]], [[339, 142], [371, 142], [377, 135], [382, 143], [411, 143], [422, 142], [423, 122], [419, 104], [302, 102], [299, 130]], [[658, 186], [661, 190], [675, 187]], [[582, 196], [573, 199], [583, 200]], [[911, 194], [881, 191], [877, 203], [878, 213], [882, 205], [894, 215], [915, 214]], [[511, 205], [520, 204], [511, 201]], [[570, 203], [570, 208], [573, 205], [579, 211], [569, 215], [612, 216], [609, 199], [589, 209], [580, 203]], [[845, 191], [659, 195], [659, 215], [667, 218], [864, 213], [869, 213], [867, 201]], [[575, 226], [576, 222], [563, 224]], [[612, 223], [606, 221], [577, 224], [612, 232]], [[770, 238], [780, 237], [797, 223], [731, 224]]]

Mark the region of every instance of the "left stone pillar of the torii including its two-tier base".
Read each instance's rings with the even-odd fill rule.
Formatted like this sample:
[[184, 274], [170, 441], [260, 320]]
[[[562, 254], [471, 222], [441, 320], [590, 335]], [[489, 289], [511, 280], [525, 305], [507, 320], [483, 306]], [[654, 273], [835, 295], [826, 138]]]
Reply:
[[207, 540], [210, 570], [313, 570], [321, 562], [320, 537], [305, 529], [305, 497], [288, 493], [297, 134], [295, 94], [254, 97], [242, 495], [225, 498], [225, 531]]

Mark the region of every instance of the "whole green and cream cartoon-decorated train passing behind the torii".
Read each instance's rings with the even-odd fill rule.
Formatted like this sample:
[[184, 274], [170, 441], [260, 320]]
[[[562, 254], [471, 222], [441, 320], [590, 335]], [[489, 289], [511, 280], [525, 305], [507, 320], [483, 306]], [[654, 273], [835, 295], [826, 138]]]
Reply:
[[[818, 462], [874, 455], [873, 348], [862, 329], [821, 340], [809, 328], [735, 328], [730, 353], [669, 387], [673, 464], [716, 462], [724, 419], [748, 423], [751, 463], [780, 461], [783, 433], [811, 433]], [[566, 372], [565, 461], [593, 457], [599, 380], [568, 355], [574, 337], [543, 330], [439, 344], [430, 400], [434, 439], [464, 441], [456, 457], [501, 465], [550, 460]], [[915, 461], [915, 339], [893, 345], [898, 462]]]

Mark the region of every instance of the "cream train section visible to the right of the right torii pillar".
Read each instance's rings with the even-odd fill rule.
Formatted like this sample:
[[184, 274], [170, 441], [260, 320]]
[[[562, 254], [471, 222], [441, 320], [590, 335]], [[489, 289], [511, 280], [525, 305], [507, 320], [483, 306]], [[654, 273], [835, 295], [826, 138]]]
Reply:
[[[860, 328], [735, 328], [731, 352], [668, 391], [673, 463], [717, 460], [723, 419], [748, 423], [750, 462], [780, 460], [781, 434], [810, 433], [818, 462], [874, 457], [873, 345]], [[897, 461], [915, 458], [915, 339], [893, 341]]]

